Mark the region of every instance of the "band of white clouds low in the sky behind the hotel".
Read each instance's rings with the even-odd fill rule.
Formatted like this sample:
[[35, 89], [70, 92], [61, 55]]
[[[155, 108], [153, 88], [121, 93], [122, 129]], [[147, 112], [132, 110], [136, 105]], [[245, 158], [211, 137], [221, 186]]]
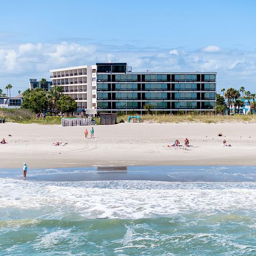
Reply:
[[[212, 54], [214, 53], [214, 54]], [[196, 50], [58, 44], [20, 44], [0, 48], [0, 84], [28, 87], [29, 78], [50, 77], [50, 69], [92, 65], [111, 60], [127, 62], [133, 71], [215, 71], [217, 88], [245, 86], [253, 92], [256, 50], [221, 49], [207, 46]], [[3, 89], [3, 88], [1, 88]]]

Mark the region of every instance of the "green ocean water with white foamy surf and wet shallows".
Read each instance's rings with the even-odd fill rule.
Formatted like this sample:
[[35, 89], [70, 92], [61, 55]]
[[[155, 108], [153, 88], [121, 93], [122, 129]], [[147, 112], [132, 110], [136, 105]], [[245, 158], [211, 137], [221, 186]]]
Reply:
[[256, 255], [256, 167], [0, 169], [0, 255]]

